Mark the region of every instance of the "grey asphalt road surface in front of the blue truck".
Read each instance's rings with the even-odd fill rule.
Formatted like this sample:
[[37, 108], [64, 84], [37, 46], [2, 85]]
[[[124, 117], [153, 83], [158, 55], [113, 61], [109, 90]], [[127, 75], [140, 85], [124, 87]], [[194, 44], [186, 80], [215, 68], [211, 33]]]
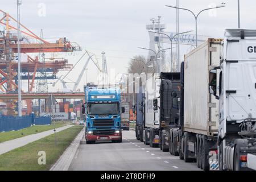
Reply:
[[200, 170], [196, 163], [185, 163], [160, 148], [151, 148], [135, 138], [135, 131], [122, 131], [122, 143], [82, 142], [69, 170]]

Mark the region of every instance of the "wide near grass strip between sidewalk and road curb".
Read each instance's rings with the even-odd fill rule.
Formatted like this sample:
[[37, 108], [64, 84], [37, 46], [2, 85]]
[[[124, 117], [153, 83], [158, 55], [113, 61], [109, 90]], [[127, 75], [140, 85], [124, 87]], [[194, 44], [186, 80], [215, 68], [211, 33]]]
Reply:
[[[41, 171], [49, 170], [57, 159], [63, 154], [65, 149], [75, 139], [83, 126], [76, 125], [69, 129], [56, 133], [57, 144], [55, 146], [54, 134], [42, 138], [35, 142], [29, 143], [26, 146], [16, 148], [10, 152], [0, 155], [0, 171], [4, 170], [28, 170]], [[46, 152], [46, 164], [39, 165], [39, 151]]]

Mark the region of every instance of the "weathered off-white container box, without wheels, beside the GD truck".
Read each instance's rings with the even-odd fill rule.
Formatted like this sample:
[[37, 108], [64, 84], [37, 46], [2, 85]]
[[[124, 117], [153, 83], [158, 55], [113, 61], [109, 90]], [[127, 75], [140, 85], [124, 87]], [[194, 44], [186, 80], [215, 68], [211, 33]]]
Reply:
[[220, 50], [221, 39], [208, 39], [185, 55], [184, 131], [207, 136], [218, 132], [218, 100], [209, 94], [209, 71], [220, 66]]

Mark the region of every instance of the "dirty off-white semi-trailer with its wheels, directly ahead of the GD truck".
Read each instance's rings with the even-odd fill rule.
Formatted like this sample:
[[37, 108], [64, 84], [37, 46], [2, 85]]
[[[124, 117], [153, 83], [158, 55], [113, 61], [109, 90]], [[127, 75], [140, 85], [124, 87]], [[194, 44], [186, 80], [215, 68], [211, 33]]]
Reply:
[[208, 39], [184, 57], [181, 64], [180, 159], [209, 169], [209, 152], [217, 151], [218, 100], [209, 94], [209, 71], [220, 65], [221, 39]]

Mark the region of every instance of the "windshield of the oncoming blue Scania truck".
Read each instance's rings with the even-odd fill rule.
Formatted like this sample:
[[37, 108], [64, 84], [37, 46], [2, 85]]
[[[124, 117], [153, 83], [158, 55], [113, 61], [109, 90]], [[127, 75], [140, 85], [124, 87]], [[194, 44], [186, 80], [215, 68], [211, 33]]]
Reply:
[[118, 103], [100, 103], [100, 104], [89, 104], [88, 114], [100, 115], [100, 114], [118, 114], [119, 104]]

